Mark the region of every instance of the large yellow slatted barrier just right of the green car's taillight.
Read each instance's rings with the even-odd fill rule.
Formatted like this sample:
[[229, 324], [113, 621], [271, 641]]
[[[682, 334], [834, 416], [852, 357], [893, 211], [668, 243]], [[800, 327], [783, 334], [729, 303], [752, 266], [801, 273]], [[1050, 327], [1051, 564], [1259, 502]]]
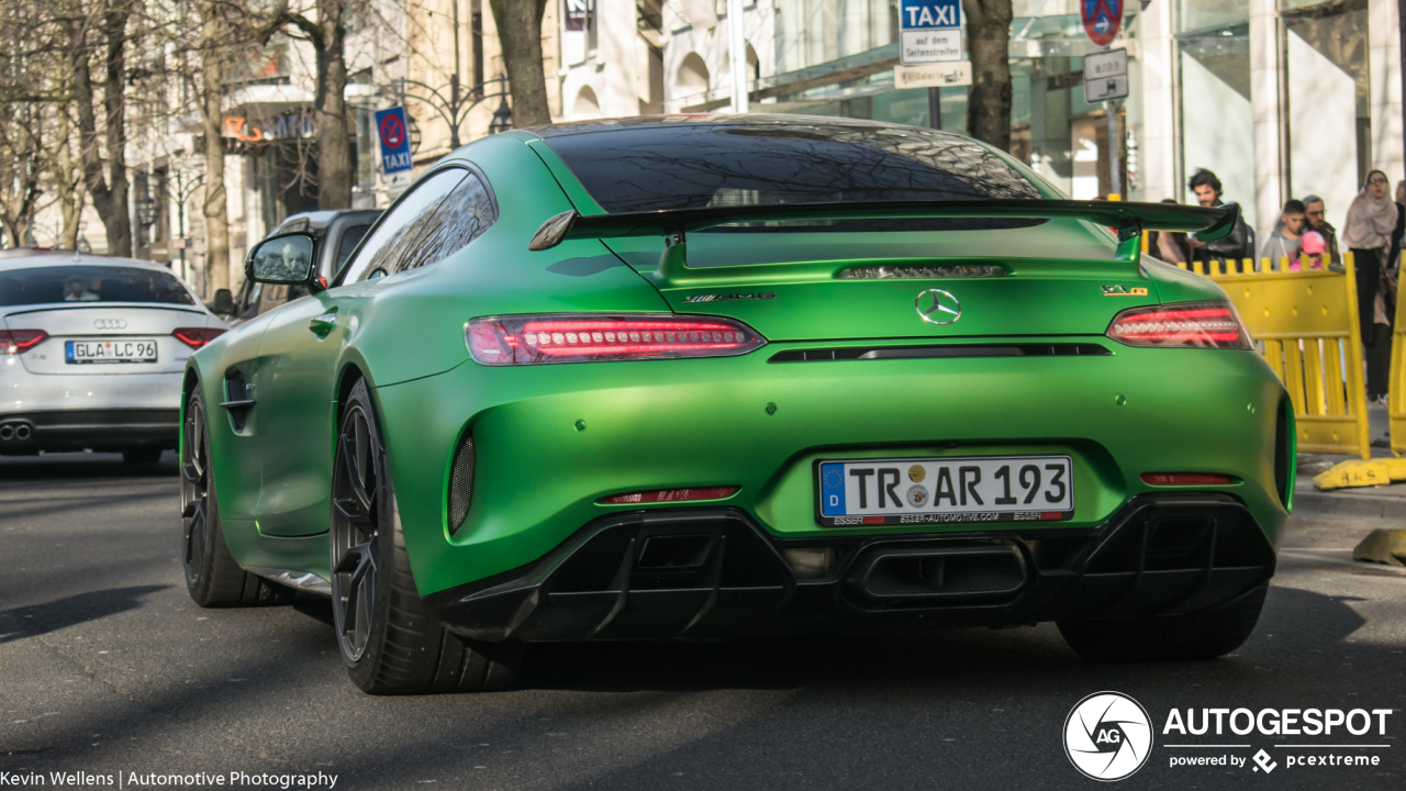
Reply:
[[[1234, 272], [1234, 262], [1195, 262], [1189, 269], [1226, 290], [1250, 335], [1263, 345], [1265, 362], [1294, 401], [1299, 450], [1371, 459], [1357, 276], [1353, 253], [1343, 258], [1347, 272], [1289, 272], [1286, 259], [1279, 259], [1278, 270], [1270, 259], [1260, 260], [1258, 272], [1251, 259], [1241, 262], [1241, 273]], [[1398, 357], [1392, 362], [1400, 373]], [[1400, 390], [1393, 387], [1392, 397], [1399, 398]], [[1406, 441], [1406, 415], [1402, 418]]]

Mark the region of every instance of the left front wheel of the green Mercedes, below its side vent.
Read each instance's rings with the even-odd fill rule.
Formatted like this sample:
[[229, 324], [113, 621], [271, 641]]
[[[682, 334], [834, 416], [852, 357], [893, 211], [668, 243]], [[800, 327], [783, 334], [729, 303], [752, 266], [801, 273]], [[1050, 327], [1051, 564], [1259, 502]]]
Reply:
[[219, 501], [209, 470], [205, 398], [194, 388], [181, 425], [180, 500], [184, 526], [186, 590], [201, 607], [256, 607], [292, 601], [292, 588], [239, 567], [219, 525]]

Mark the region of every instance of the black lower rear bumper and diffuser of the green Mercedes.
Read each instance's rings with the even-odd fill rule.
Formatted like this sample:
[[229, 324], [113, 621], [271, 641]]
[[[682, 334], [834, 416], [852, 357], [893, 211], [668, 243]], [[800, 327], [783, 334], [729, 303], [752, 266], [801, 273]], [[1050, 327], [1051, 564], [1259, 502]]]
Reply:
[[586, 525], [543, 559], [426, 597], [482, 640], [720, 639], [1192, 612], [1274, 576], [1223, 494], [1142, 495], [1098, 528], [787, 540], [734, 508]]

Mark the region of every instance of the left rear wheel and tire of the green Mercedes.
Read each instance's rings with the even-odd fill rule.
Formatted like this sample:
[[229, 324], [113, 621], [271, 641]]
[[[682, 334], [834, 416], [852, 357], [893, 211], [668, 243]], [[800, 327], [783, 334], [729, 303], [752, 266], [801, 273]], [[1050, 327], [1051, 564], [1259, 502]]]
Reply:
[[328, 536], [337, 647], [373, 695], [475, 692], [512, 684], [520, 643], [454, 635], [425, 607], [405, 550], [385, 443], [366, 380], [337, 422]]

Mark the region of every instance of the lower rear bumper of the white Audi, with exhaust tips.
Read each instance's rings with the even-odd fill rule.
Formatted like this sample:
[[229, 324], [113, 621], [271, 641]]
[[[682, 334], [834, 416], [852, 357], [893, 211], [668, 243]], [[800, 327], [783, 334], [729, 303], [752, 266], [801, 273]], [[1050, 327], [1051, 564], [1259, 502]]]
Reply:
[[[0, 377], [0, 455], [176, 448], [181, 373]], [[10, 431], [6, 431], [6, 426]], [[24, 431], [20, 428], [24, 426]]]

